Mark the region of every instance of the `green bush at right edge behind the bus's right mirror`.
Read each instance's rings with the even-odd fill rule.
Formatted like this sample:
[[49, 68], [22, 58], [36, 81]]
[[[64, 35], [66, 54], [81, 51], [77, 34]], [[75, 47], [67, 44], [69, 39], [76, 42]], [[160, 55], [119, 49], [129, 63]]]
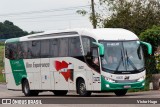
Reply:
[[147, 49], [144, 48], [146, 57], [145, 63], [147, 74], [156, 74], [159, 72], [157, 69], [155, 52], [160, 45], [160, 26], [153, 26], [151, 29], [145, 30], [140, 34], [140, 39], [152, 45], [153, 52], [151, 56], [147, 54]]

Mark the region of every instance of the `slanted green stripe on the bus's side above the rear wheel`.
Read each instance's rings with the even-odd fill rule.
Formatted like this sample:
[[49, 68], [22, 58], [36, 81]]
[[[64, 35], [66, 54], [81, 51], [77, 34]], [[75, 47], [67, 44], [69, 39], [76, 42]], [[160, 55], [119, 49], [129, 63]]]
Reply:
[[27, 77], [23, 59], [10, 60], [10, 65], [16, 85], [21, 84], [23, 77]]

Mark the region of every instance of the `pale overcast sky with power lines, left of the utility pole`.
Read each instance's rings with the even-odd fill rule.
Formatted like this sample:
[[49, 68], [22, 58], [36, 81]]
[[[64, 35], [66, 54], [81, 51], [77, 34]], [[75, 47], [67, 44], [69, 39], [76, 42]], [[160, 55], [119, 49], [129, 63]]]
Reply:
[[[95, 0], [98, 3], [99, 0]], [[0, 0], [0, 22], [12, 21], [25, 31], [92, 28], [89, 16], [76, 13], [90, 10], [91, 0]]]

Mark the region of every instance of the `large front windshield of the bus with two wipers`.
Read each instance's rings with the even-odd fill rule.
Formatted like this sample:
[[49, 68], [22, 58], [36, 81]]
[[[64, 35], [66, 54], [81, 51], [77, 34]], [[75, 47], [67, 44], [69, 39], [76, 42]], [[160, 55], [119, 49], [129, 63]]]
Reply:
[[100, 41], [104, 45], [101, 57], [104, 71], [138, 71], [144, 69], [144, 58], [139, 41]]

